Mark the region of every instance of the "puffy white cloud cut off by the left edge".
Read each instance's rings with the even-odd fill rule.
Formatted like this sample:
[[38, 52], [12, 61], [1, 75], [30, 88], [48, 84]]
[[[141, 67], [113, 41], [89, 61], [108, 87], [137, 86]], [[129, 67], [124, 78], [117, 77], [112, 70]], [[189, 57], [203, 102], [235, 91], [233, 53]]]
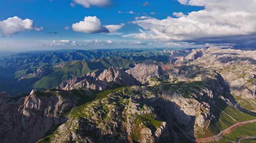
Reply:
[[20, 31], [32, 29], [34, 29], [33, 20], [30, 19], [22, 20], [17, 16], [14, 16], [13, 18], [0, 21], [0, 34], [4, 36], [11, 36], [18, 34]]

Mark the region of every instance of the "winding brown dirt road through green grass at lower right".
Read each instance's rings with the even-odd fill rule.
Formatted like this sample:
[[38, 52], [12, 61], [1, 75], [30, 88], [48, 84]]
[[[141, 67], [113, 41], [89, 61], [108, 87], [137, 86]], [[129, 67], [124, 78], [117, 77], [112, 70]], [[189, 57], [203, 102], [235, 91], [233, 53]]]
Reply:
[[232, 132], [234, 129], [236, 129], [237, 127], [247, 124], [247, 123], [254, 123], [256, 122], [255, 120], [249, 120], [249, 121], [244, 121], [244, 122], [239, 122], [237, 124], [234, 124], [228, 128], [226, 128], [226, 130], [221, 131], [219, 134], [217, 134], [216, 136], [212, 136], [212, 137], [205, 137], [205, 138], [201, 138], [201, 139], [196, 139], [195, 142], [196, 143], [208, 143], [208, 142], [214, 142], [214, 141], [219, 141], [222, 136], [225, 136], [226, 134]]

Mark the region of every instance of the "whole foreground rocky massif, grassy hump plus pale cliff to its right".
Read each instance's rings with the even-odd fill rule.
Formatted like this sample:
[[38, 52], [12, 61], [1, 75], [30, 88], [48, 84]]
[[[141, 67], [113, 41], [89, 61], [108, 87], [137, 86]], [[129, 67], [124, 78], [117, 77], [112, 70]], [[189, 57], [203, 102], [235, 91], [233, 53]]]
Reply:
[[[214, 74], [214, 76], [210, 76]], [[93, 102], [74, 108], [51, 136], [39, 141], [90, 143], [173, 142], [176, 126], [191, 140], [216, 120], [223, 80], [209, 73], [204, 82], [161, 82], [106, 90]]]

